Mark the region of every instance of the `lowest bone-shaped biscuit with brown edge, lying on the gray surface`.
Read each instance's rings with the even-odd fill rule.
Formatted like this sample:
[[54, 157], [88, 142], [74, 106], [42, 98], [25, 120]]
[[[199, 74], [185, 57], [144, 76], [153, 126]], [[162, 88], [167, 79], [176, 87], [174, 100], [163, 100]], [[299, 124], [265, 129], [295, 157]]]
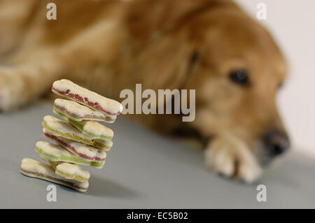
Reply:
[[48, 180], [50, 182], [55, 182], [59, 185], [64, 185], [66, 187], [71, 187], [79, 192], [86, 192], [89, 187], [87, 181], [78, 182], [76, 180], [67, 180], [60, 177], [55, 173], [55, 169], [48, 164], [43, 164], [34, 159], [25, 158], [22, 159], [20, 171], [23, 175], [27, 175], [31, 178], [39, 178], [42, 180]]

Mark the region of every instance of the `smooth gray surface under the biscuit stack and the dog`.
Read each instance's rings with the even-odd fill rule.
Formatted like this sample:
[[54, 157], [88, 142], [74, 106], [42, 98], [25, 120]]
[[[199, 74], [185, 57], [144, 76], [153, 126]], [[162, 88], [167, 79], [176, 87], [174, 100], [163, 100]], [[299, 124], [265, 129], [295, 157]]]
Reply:
[[269, 169], [258, 184], [267, 186], [267, 202], [256, 201], [256, 185], [220, 178], [204, 167], [202, 154], [118, 117], [113, 149], [103, 169], [88, 168], [85, 194], [57, 186], [57, 202], [46, 201], [49, 182], [20, 173], [34, 151], [41, 120], [50, 103], [36, 103], [0, 114], [0, 208], [315, 208], [315, 163], [290, 154]]

